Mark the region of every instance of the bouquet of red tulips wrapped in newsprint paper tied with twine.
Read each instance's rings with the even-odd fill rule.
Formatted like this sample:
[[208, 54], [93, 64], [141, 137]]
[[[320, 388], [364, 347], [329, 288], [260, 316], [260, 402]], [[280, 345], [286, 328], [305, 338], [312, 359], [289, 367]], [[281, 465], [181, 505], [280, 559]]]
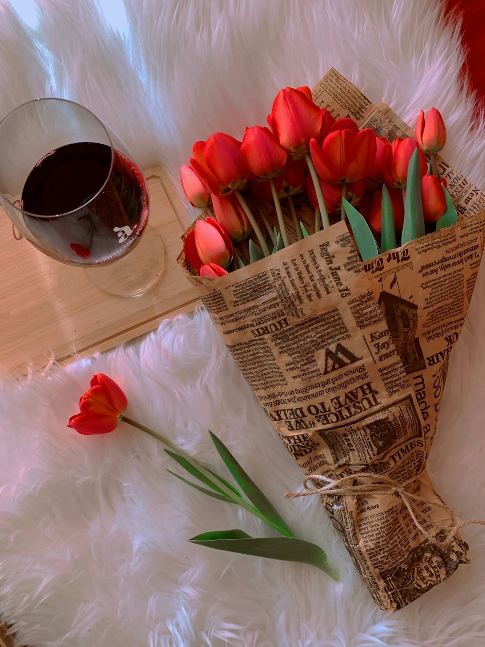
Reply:
[[485, 195], [437, 155], [436, 109], [414, 133], [335, 70], [281, 90], [268, 125], [194, 144], [182, 186], [205, 212], [179, 262], [305, 472], [288, 496], [319, 494], [394, 611], [467, 561], [426, 461]]

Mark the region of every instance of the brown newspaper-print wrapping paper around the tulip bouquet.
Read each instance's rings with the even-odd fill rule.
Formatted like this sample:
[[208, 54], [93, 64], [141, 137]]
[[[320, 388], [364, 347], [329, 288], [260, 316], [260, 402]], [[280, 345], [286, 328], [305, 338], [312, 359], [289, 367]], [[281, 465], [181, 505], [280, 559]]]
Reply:
[[[409, 133], [334, 70], [314, 99], [391, 139]], [[365, 263], [345, 223], [215, 280], [193, 276], [183, 254], [179, 262], [303, 472], [354, 475], [356, 485], [369, 473], [416, 477], [416, 517], [442, 540], [451, 516], [424, 468], [482, 257], [485, 200], [440, 166], [467, 217]], [[321, 500], [381, 609], [402, 608], [468, 562], [458, 535], [430, 542], [398, 494]]]

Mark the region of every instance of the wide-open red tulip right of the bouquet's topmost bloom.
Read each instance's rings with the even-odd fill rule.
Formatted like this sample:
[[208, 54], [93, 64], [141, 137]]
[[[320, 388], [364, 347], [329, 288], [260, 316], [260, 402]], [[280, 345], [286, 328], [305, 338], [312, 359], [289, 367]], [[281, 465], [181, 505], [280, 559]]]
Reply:
[[333, 130], [321, 148], [310, 142], [310, 153], [318, 175], [326, 182], [356, 182], [367, 175], [376, 157], [376, 133], [372, 128], [355, 133]]

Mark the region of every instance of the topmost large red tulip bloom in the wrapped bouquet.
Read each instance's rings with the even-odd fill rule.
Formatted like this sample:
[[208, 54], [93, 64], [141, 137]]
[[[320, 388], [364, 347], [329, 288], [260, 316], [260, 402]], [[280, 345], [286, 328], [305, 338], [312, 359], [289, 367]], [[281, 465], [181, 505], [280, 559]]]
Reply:
[[321, 110], [296, 88], [286, 87], [276, 95], [271, 111], [271, 124], [279, 143], [286, 150], [304, 154], [310, 139], [321, 131]]

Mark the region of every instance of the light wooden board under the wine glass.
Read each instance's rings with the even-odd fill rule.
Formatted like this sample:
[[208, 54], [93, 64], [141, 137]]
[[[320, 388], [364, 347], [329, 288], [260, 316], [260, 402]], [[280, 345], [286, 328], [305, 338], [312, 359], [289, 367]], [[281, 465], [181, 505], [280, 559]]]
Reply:
[[162, 275], [142, 296], [111, 296], [98, 290], [83, 269], [54, 261], [26, 240], [12, 236], [0, 207], [0, 369], [27, 373], [48, 360], [72, 361], [127, 342], [162, 320], [193, 311], [198, 298], [177, 265], [182, 229], [189, 224], [175, 186], [160, 166], [145, 173], [150, 225], [165, 250]]

